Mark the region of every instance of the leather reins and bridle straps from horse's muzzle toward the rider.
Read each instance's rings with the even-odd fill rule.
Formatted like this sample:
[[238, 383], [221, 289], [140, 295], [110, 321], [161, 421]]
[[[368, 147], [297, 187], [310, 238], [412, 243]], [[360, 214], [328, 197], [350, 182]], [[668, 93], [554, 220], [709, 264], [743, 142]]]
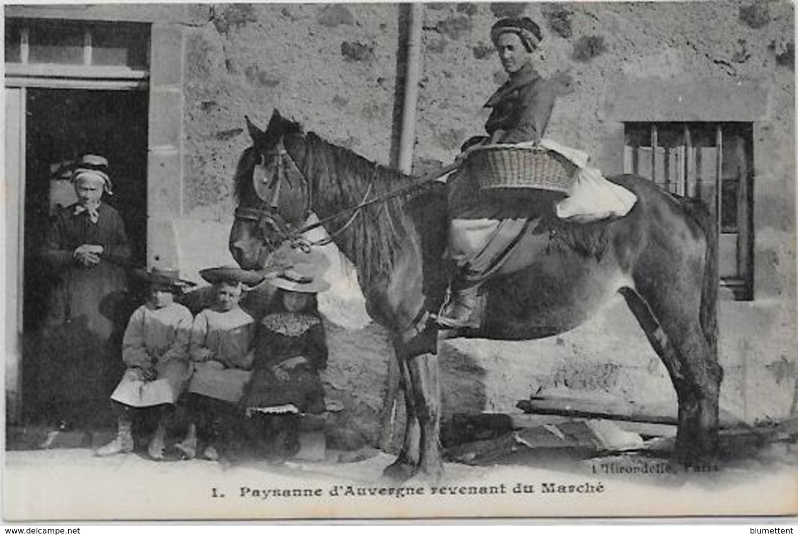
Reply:
[[[282, 145], [282, 140], [280, 141], [280, 145]], [[278, 159], [278, 172], [280, 172], [282, 170], [282, 158], [281, 157], [282, 156], [286, 156], [290, 160], [290, 163], [294, 165], [294, 168], [296, 168], [296, 170], [302, 176], [302, 179], [305, 180], [306, 183], [309, 183], [309, 180], [307, 179], [307, 176], [305, 175], [305, 173], [302, 172], [301, 169], [299, 169], [299, 166], [296, 164], [296, 161], [294, 161], [294, 157], [292, 157], [290, 155], [290, 153], [286, 149], [283, 148], [283, 149], [279, 150], [279, 152], [276, 154], [276, 156], [279, 157], [279, 159]], [[374, 164], [374, 166], [375, 166], [375, 171], [376, 171], [377, 164]], [[393, 191], [384, 193], [383, 195], [374, 197], [373, 199], [369, 199], [369, 195], [371, 194], [371, 190], [372, 190], [373, 185], [374, 185], [374, 181], [371, 180], [369, 182], [369, 187], [365, 191], [365, 195], [363, 196], [363, 200], [361, 200], [361, 202], [359, 204], [351, 206], [350, 208], [344, 208], [344, 209], [342, 209], [339, 212], [335, 212], [331, 216], [327, 216], [327, 217], [325, 217], [325, 218], [323, 218], [321, 220], [318, 220], [318, 221], [316, 221], [314, 223], [311, 223], [311, 224], [303, 225], [302, 227], [297, 228], [297, 229], [290, 228], [290, 224], [288, 224], [285, 220], [283, 220], [282, 217], [279, 215], [279, 213], [275, 212], [275, 209], [277, 207], [269, 206], [268, 205], [269, 203], [267, 203], [267, 201], [265, 201], [263, 199], [262, 199], [262, 201], [263, 201], [262, 205], [259, 208], [240, 208], [240, 207], [236, 208], [235, 209], [235, 217], [237, 217], [239, 219], [256, 221], [261, 226], [263, 226], [264, 224], [271, 224], [271, 226], [273, 228], [275, 228], [276, 233], [279, 235], [279, 237], [281, 239], [290, 240], [290, 242], [292, 244], [295, 244], [295, 246], [300, 247], [300, 248], [305, 249], [305, 250], [309, 250], [311, 246], [323, 246], [323, 245], [326, 245], [326, 244], [330, 244], [334, 240], [334, 238], [336, 236], [338, 236], [342, 232], [346, 231], [346, 229], [349, 228], [350, 225], [354, 223], [355, 218], [357, 218], [358, 214], [361, 212], [361, 210], [363, 208], [371, 206], [372, 204], [377, 204], [379, 202], [383, 202], [385, 200], [392, 199], [393, 197], [396, 197], [396, 196], [400, 196], [403, 193], [408, 192], [408, 191], [410, 191], [413, 188], [417, 188], [418, 186], [421, 186], [421, 185], [426, 184], [428, 182], [432, 182], [433, 180], [436, 180], [437, 178], [440, 178], [440, 176], [444, 176], [444, 175], [448, 174], [449, 172], [452, 172], [452, 171], [456, 170], [459, 167], [460, 167], [460, 161], [455, 161], [452, 164], [448, 164], [444, 168], [440, 168], [437, 171], [431, 172], [431, 173], [429, 173], [429, 174], [427, 174], [425, 176], [422, 176], [421, 178], [418, 178], [417, 180], [413, 180], [413, 181], [409, 182], [408, 184], [405, 184], [404, 186], [401, 186], [401, 188], [394, 189]], [[305, 216], [305, 219], [307, 219], [307, 216], [309, 215], [309, 213], [310, 213], [310, 199], [308, 199], [308, 201], [306, 202], [306, 216]], [[327, 236], [326, 238], [322, 238], [321, 240], [310, 241], [310, 240], [307, 240], [306, 238], [302, 237], [302, 234], [305, 234], [306, 232], [310, 232], [314, 228], [322, 227], [322, 226], [324, 226], [324, 225], [326, 225], [326, 224], [328, 224], [328, 223], [330, 223], [330, 222], [332, 222], [334, 220], [337, 220], [338, 218], [340, 218], [342, 216], [346, 216], [347, 214], [350, 214], [350, 213], [352, 215], [350, 216], [350, 218], [348, 220], [346, 220], [346, 223], [343, 224], [340, 228], [337, 228], [334, 232], [330, 232], [329, 236]]]

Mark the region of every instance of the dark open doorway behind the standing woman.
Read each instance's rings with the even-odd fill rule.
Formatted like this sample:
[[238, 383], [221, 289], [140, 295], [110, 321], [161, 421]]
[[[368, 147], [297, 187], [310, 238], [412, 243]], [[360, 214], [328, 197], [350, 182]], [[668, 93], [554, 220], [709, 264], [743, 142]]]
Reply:
[[[143, 265], [147, 236], [148, 93], [99, 89], [27, 88], [24, 118], [25, 203], [23, 220], [22, 331], [35, 336], [45, 319], [53, 273], [38, 255], [49, 219], [75, 200], [69, 164], [83, 153], [109, 161], [113, 196], [132, 247], [132, 264]], [[22, 406], [37, 419], [34, 374], [37, 355], [22, 355]]]

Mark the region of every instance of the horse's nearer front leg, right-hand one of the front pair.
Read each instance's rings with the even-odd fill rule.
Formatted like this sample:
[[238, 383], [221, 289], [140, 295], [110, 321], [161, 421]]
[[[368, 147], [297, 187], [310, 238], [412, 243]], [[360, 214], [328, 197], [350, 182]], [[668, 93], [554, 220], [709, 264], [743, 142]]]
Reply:
[[417, 474], [437, 481], [444, 470], [440, 459], [440, 371], [437, 355], [417, 355], [409, 360], [408, 367], [421, 430]]

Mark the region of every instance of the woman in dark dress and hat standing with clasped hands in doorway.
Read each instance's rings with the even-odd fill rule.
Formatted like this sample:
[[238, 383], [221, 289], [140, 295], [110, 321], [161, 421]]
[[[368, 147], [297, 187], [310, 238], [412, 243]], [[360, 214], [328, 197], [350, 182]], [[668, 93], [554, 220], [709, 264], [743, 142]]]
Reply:
[[77, 203], [50, 224], [41, 258], [57, 275], [39, 341], [40, 394], [50, 447], [60, 430], [86, 422], [109, 394], [108, 375], [119, 359], [114, 347], [114, 298], [127, 289], [131, 251], [122, 218], [102, 200], [111, 194], [108, 161], [86, 154], [72, 173]]

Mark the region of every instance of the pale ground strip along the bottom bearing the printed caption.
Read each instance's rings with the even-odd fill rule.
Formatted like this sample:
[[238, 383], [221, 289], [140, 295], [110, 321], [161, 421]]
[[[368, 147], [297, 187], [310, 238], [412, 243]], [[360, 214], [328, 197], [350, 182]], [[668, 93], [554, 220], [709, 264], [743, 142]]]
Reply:
[[[4, 517], [247, 519], [783, 515], [798, 512], [798, 449], [780, 443], [689, 473], [665, 458], [519, 450], [488, 466], [447, 462], [439, 481], [382, 476], [381, 451], [318, 462], [153, 462], [89, 448], [7, 451]], [[304, 493], [302, 496], [280, 493]]]

